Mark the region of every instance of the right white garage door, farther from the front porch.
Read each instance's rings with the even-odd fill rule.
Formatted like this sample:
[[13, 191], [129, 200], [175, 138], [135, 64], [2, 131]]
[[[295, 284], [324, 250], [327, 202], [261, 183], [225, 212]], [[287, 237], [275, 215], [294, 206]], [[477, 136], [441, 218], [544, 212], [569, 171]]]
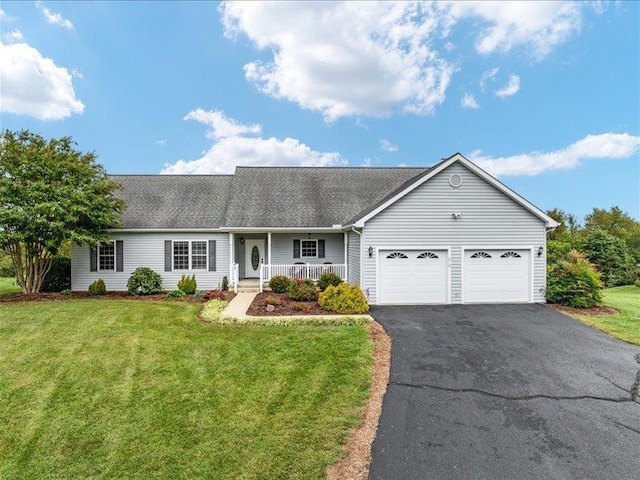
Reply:
[[529, 250], [465, 250], [462, 288], [464, 303], [529, 302]]

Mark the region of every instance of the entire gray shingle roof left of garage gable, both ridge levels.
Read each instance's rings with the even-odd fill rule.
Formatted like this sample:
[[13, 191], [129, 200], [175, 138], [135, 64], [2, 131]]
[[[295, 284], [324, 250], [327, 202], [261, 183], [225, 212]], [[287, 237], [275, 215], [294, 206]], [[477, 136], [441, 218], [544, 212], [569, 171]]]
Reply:
[[347, 224], [426, 168], [238, 167], [235, 175], [113, 175], [125, 229]]

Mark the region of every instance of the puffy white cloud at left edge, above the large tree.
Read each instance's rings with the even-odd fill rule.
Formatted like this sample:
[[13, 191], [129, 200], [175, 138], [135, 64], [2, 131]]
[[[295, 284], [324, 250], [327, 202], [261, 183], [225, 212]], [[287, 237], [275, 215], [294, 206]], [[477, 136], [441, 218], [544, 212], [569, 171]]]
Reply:
[[69, 71], [26, 43], [0, 42], [0, 84], [3, 112], [57, 120], [84, 111]]

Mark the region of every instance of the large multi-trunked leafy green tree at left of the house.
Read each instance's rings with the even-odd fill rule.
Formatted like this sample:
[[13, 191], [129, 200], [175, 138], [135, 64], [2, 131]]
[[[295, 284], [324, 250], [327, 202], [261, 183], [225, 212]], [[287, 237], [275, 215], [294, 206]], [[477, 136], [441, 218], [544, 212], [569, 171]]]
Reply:
[[70, 137], [23, 130], [0, 138], [0, 248], [24, 293], [37, 293], [65, 241], [97, 245], [120, 226], [123, 202], [93, 152]]

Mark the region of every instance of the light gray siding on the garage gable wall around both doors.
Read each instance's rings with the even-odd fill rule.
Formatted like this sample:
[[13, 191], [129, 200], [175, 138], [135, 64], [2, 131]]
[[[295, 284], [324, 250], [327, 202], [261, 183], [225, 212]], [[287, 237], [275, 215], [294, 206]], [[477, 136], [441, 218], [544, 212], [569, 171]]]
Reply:
[[[449, 176], [463, 176], [458, 188]], [[454, 220], [452, 213], [461, 213]], [[462, 248], [545, 248], [546, 228], [542, 220], [458, 163], [440, 172], [402, 199], [370, 219], [363, 229], [363, 288], [369, 301], [376, 298], [376, 256], [374, 248], [451, 247], [451, 302], [461, 302]], [[544, 302], [546, 255], [534, 255], [534, 302]]]

